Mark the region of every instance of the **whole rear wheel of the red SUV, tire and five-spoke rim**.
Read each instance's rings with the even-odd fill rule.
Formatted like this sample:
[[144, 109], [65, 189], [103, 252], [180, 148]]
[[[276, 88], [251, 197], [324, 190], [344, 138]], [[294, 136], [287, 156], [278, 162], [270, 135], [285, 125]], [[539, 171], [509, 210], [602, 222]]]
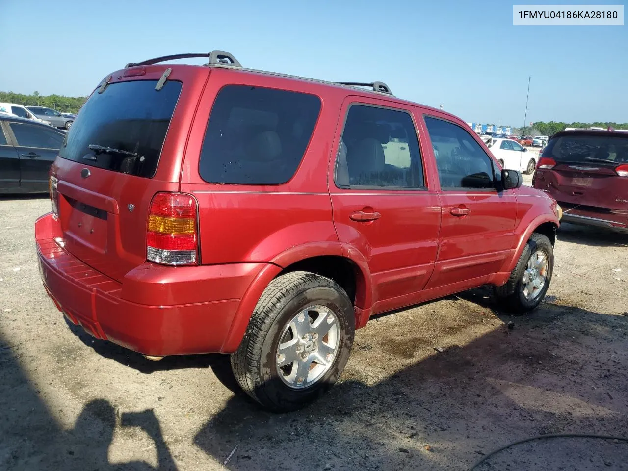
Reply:
[[242, 390], [264, 408], [293, 411], [337, 381], [354, 332], [353, 304], [337, 283], [286, 273], [264, 290], [231, 367]]

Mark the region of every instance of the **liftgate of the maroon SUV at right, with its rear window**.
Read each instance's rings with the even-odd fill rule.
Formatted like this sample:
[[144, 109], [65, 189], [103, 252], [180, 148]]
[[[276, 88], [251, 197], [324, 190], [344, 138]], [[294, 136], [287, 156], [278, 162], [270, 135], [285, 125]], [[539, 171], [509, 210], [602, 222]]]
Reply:
[[628, 179], [618, 176], [615, 168], [628, 163], [628, 133], [556, 136], [542, 156], [555, 160], [556, 166], [539, 184], [559, 202], [625, 209]]

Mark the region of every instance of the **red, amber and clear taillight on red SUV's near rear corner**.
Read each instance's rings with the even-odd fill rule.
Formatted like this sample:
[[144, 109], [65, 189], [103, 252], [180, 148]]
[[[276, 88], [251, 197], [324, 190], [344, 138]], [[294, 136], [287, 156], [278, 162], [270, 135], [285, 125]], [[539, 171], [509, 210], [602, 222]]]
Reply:
[[157, 193], [151, 202], [146, 259], [165, 265], [198, 263], [196, 200], [185, 193]]

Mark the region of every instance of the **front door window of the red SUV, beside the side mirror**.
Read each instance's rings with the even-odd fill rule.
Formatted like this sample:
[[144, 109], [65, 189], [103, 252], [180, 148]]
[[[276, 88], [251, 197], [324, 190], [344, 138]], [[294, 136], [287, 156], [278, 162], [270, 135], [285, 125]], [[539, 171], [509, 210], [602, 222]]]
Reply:
[[480, 144], [465, 129], [425, 117], [434, 149], [441, 188], [495, 189], [493, 165]]

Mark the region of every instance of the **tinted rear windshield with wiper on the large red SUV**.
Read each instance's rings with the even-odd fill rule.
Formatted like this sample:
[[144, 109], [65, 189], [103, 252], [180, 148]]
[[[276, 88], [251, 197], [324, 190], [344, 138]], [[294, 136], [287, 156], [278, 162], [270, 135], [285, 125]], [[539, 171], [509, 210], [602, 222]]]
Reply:
[[[181, 93], [181, 82], [168, 80], [159, 91], [156, 84], [156, 80], [118, 82], [102, 94], [94, 92], [73, 122], [59, 155], [84, 165], [151, 178]], [[99, 153], [90, 145], [134, 155]]]

